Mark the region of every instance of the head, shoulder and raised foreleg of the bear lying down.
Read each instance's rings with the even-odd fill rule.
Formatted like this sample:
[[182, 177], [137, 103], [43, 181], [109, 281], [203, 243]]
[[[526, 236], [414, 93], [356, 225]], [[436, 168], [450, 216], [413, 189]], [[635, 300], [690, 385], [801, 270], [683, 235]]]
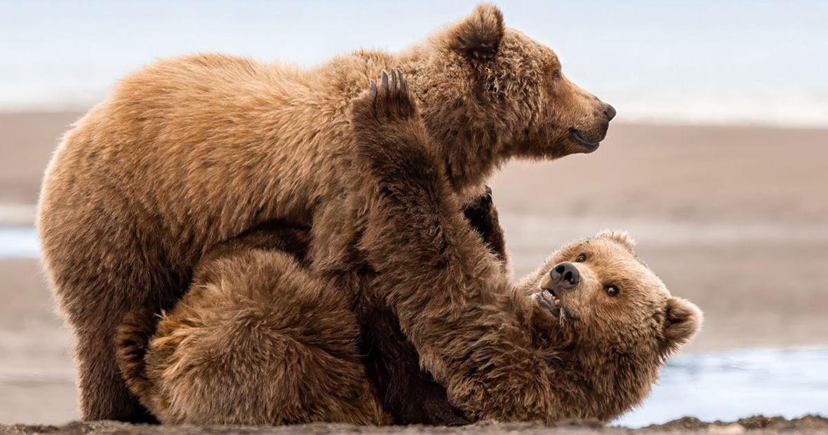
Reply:
[[[473, 420], [607, 421], [640, 404], [698, 331], [699, 309], [672, 297], [621, 232], [567, 245], [510, 283], [455, 211], [402, 83], [354, 104], [357, 163], [374, 181], [354, 208], [372, 292], [395, 309], [422, 365]], [[553, 279], [559, 268], [580, 272], [574, 287]]]

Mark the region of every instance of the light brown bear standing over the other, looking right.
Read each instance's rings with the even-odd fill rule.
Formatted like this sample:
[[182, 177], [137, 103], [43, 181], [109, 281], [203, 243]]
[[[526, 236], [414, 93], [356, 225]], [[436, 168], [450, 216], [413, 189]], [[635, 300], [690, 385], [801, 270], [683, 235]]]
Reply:
[[[255, 225], [312, 225], [313, 273], [356, 301], [359, 234], [338, 211], [363, 178], [348, 109], [393, 68], [416, 86], [426, 145], [460, 201], [510, 158], [595, 151], [615, 114], [485, 4], [398, 54], [356, 51], [309, 69], [204, 54], [128, 75], [66, 133], [39, 202], [84, 420], [147, 418], [118, 374], [116, 327], [134, 309], [172, 307], [211, 246]], [[385, 309], [358, 302], [359, 317]]]

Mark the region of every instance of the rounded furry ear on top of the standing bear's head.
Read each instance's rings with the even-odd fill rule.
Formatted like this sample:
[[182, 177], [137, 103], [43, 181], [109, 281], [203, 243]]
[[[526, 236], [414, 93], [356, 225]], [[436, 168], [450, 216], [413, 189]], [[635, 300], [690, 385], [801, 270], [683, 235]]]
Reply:
[[503, 39], [503, 12], [493, 4], [483, 3], [449, 31], [452, 50], [475, 65], [492, 60]]

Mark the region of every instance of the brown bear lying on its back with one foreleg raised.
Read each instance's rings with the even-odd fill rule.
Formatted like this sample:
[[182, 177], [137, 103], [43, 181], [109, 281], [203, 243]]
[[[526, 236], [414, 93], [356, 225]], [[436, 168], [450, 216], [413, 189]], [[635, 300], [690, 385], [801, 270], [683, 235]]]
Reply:
[[[622, 232], [568, 244], [517, 286], [506, 283], [475, 221], [445, 204], [444, 195], [456, 199], [428, 148], [416, 146], [427, 139], [404, 89], [404, 79], [383, 83], [354, 104], [365, 144], [357, 164], [377, 177], [354, 201], [384, 202], [362, 209], [360, 248], [377, 267], [371, 285], [402, 307], [403, 326], [428, 336], [443, 328], [430, 338], [444, 347], [423, 348], [443, 362], [434, 366], [452, 402], [471, 421], [547, 423], [607, 421], [641, 403], [667, 356], [698, 330], [698, 308], [672, 297]], [[409, 131], [402, 146], [386, 143], [388, 126], [397, 139]], [[372, 397], [348, 303], [302, 273], [303, 254], [282, 250], [295, 242], [268, 248], [253, 237], [206, 257], [157, 331], [140, 312], [119, 328], [132, 392], [164, 423], [391, 421]], [[402, 314], [413, 304], [423, 308], [412, 312], [418, 320]]]

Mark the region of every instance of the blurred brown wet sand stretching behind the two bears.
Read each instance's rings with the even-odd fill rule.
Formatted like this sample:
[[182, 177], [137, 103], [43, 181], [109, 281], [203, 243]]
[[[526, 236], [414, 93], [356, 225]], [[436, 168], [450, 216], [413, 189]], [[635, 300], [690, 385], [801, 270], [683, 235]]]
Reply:
[[[46, 162], [78, 116], [0, 114], [0, 225], [31, 225]], [[826, 163], [828, 130], [617, 124], [594, 154], [512, 163], [491, 184], [517, 276], [570, 239], [629, 230], [667, 287], [705, 311], [686, 351], [824, 346]], [[0, 297], [0, 423], [77, 418], [70, 337], [35, 259], [0, 260]]]

